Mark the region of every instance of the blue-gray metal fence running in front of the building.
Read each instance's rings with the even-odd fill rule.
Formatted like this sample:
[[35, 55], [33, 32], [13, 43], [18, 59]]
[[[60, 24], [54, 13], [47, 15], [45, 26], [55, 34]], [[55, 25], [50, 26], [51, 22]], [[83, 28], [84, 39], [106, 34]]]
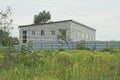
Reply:
[[[68, 45], [59, 42], [34, 42], [33, 50], [75, 49], [78, 44], [81, 42], [68, 42]], [[120, 41], [85, 41], [84, 46], [88, 49], [120, 48]], [[16, 49], [20, 48], [18, 45], [15, 47]]]

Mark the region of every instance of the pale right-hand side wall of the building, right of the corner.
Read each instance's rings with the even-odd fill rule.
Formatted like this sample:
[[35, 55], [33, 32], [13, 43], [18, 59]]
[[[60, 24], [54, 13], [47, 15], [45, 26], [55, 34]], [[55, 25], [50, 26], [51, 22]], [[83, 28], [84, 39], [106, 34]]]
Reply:
[[94, 41], [95, 31], [82, 25], [71, 22], [71, 39], [73, 41]]

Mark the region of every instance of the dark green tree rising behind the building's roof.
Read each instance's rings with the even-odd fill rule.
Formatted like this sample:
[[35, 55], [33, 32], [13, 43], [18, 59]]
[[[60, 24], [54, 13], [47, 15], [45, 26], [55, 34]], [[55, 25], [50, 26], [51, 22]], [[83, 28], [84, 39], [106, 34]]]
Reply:
[[44, 24], [47, 23], [51, 19], [51, 14], [46, 12], [45, 10], [43, 12], [40, 12], [38, 15], [34, 16], [34, 24]]

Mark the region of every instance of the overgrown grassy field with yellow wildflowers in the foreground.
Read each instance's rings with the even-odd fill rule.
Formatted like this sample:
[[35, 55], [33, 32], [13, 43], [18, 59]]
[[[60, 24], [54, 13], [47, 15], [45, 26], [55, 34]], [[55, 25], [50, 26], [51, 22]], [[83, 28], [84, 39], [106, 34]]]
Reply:
[[0, 80], [120, 80], [120, 50], [0, 51]]

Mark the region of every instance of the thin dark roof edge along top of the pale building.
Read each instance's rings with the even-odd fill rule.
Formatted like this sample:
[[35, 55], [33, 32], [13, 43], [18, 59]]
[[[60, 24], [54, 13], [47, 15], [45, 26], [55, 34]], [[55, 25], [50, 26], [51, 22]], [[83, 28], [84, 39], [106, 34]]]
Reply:
[[36, 26], [36, 25], [46, 25], [46, 24], [61, 23], [61, 22], [68, 22], [68, 21], [71, 21], [71, 22], [73, 22], [73, 23], [76, 23], [76, 24], [78, 24], [78, 25], [81, 25], [81, 26], [84, 26], [84, 27], [86, 27], [86, 28], [89, 28], [89, 29], [91, 29], [91, 30], [96, 31], [96, 29], [93, 29], [93, 28], [91, 28], [91, 27], [88, 27], [88, 26], [86, 26], [86, 25], [84, 25], [84, 24], [81, 24], [81, 23], [79, 23], [79, 22], [77, 22], [77, 21], [74, 21], [74, 20], [63, 20], [63, 21], [49, 22], [49, 23], [44, 23], [44, 24], [21, 25], [21, 26], [18, 26], [18, 27], [19, 27], [19, 28], [21, 28], [21, 27], [30, 27], [30, 26]]

